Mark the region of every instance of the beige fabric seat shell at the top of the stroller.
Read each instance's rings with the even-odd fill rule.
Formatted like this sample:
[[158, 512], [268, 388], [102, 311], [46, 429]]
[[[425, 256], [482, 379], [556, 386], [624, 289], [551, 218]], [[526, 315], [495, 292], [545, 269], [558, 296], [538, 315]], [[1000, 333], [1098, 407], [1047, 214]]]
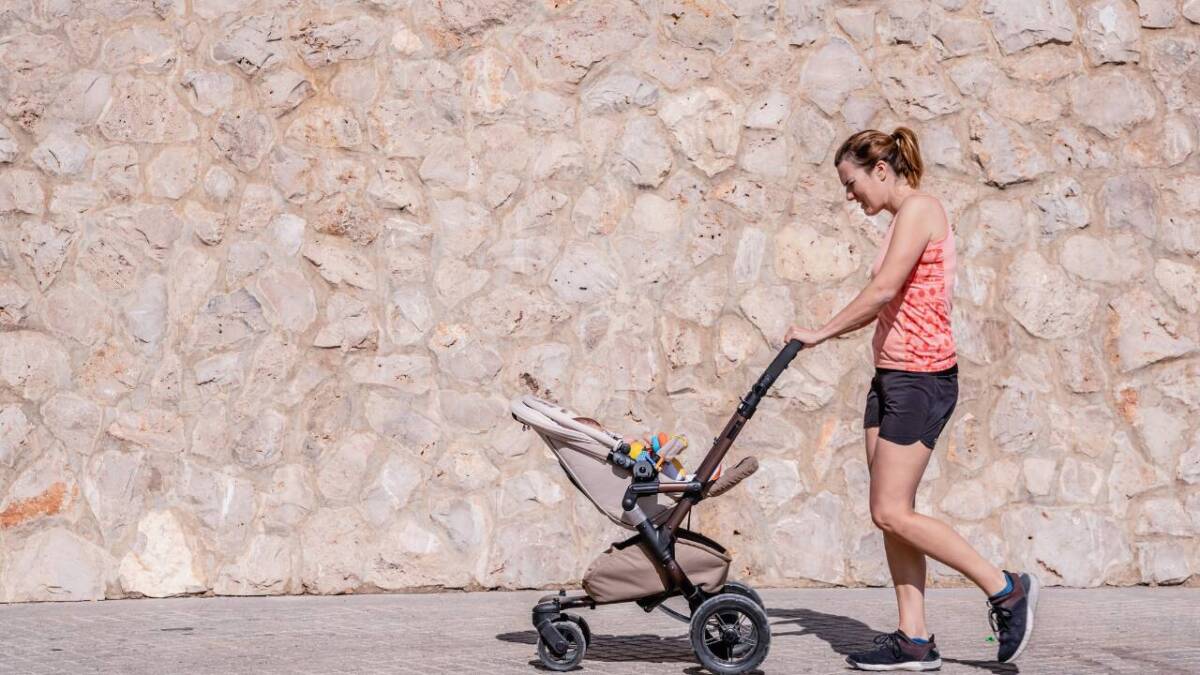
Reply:
[[[620, 506], [629, 486], [629, 471], [608, 464], [608, 450], [620, 444], [620, 436], [575, 422], [571, 411], [536, 396], [512, 401], [512, 417], [541, 436], [558, 458], [563, 471], [613, 522], [628, 530], [636, 527], [634, 516]], [[637, 506], [652, 522], [662, 522], [674, 501], [666, 495], [646, 495]]]

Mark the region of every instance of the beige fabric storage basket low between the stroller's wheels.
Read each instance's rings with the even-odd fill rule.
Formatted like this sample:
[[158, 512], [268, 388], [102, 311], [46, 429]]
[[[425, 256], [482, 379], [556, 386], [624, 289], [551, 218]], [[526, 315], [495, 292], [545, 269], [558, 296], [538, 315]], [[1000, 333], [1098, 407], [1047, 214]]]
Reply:
[[[688, 579], [709, 593], [725, 586], [730, 556], [700, 542], [676, 540], [676, 561]], [[583, 590], [598, 603], [632, 601], [666, 591], [666, 572], [638, 544], [608, 548], [583, 575]]]

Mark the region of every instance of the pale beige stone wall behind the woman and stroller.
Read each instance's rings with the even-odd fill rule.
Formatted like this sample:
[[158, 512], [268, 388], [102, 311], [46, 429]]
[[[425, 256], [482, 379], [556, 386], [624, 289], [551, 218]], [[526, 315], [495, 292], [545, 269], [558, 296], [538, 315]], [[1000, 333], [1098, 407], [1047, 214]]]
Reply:
[[[577, 583], [622, 532], [506, 404], [691, 466], [886, 221], [954, 222], [961, 400], [918, 506], [1072, 586], [1200, 572], [1198, 0], [13, 0], [0, 601]], [[761, 584], [884, 584], [869, 330], [696, 513]], [[931, 569], [935, 583], [961, 583]]]

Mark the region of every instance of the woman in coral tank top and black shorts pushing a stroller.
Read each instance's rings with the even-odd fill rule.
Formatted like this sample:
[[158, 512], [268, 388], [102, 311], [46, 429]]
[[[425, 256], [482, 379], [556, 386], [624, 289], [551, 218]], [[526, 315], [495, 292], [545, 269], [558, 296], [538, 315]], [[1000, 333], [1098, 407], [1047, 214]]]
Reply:
[[787, 339], [811, 347], [875, 322], [875, 377], [863, 426], [870, 467], [871, 520], [883, 531], [900, 625], [874, 651], [847, 662], [863, 670], [934, 670], [941, 657], [925, 626], [925, 556], [971, 579], [988, 595], [989, 620], [1008, 663], [1033, 629], [1038, 581], [984, 560], [948, 525], [913, 510], [917, 485], [937, 436], [958, 401], [950, 330], [954, 232], [937, 198], [918, 190], [923, 165], [917, 136], [869, 130], [834, 156], [846, 199], [866, 215], [892, 214], [871, 280], [824, 327], [793, 327]]

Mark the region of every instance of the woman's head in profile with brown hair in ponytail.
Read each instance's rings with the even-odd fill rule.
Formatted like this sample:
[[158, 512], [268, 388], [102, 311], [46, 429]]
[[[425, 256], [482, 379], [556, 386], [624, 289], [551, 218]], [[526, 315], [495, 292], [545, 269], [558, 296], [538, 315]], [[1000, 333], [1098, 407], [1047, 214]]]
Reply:
[[868, 215], [880, 213], [896, 185], [920, 186], [925, 166], [917, 135], [898, 127], [890, 135], [869, 129], [847, 138], [833, 159], [846, 199], [858, 202]]

